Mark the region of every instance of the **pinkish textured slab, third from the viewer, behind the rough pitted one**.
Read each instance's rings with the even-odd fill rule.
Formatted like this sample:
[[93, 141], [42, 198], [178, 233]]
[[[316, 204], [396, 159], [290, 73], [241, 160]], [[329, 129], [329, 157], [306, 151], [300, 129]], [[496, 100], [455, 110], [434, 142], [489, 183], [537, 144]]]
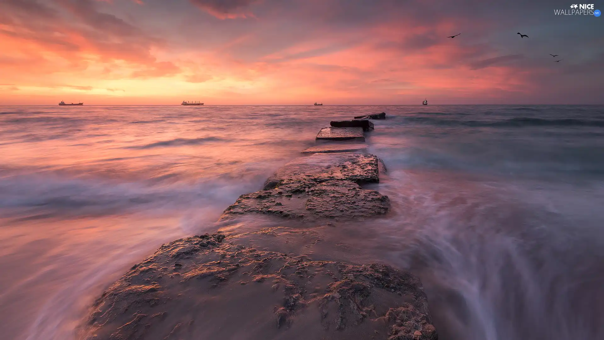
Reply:
[[283, 180], [350, 180], [355, 183], [378, 183], [377, 157], [371, 154], [339, 152], [299, 157], [278, 169], [265, 182], [265, 189], [275, 188]]

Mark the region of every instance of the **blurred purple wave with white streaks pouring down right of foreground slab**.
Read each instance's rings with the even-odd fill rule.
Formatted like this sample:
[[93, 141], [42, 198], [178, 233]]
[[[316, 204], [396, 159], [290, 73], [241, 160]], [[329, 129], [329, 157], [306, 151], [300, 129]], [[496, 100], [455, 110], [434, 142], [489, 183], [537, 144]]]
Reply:
[[[376, 247], [412, 267], [446, 339], [602, 339], [603, 192], [470, 184], [389, 169]], [[410, 185], [413, 183], [413, 185]]]

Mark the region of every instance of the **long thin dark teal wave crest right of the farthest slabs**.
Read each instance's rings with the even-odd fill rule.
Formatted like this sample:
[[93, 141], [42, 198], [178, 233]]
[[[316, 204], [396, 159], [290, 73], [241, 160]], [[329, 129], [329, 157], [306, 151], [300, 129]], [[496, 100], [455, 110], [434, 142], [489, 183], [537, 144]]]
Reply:
[[515, 117], [498, 121], [438, 119], [435, 117], [406, 117], [407, 122], [429, 123], [440, 126], [492, 126], [492, 127], [523, 127], [523, 126], [604, 126], [604, 120], [588, 119], [543, 119], [532, 117]]

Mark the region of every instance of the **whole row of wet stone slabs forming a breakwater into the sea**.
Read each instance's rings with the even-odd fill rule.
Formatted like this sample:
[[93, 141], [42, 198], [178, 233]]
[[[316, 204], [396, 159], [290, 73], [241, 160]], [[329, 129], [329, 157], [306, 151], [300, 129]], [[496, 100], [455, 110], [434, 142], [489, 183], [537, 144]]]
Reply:
[[[437, 339], [411, 273], [310, 258], [286, 237], [302, 224], [320, 234], [334, 221], [388, 212], [387, 196], [362, 188], [385, 171], [361, 143], [374, 128], [368, 119], [385, 113], [331, 122], [317, 145], [226, 208], [216, 234], [164, 244], [135, 264], [97, 299], [79, 338]], [[259, 215], [285, 226], [242, 220]]]

